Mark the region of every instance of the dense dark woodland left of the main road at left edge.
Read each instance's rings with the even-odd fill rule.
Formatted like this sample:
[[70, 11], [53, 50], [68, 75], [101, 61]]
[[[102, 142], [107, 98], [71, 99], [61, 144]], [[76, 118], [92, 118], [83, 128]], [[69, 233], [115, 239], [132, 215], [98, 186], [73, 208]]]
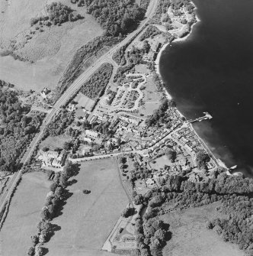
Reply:
[[0, 89], [0, 171], [17, 170], [19, 157], [40, 128], [44, 115], [29, 112], [18, 92]]

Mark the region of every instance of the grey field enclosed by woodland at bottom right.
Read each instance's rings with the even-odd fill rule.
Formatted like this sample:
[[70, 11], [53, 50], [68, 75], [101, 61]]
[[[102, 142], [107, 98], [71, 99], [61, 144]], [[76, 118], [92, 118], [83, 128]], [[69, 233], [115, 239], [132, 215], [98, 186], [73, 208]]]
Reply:
[[164, 248], [165, 256], [243, 256], [237, 245], [226, 243], [213, 230], [206, 228], [208, 219], [216, 217], [216, 206], [190, 208], [163, 215], [170, 224], [172, 238]]

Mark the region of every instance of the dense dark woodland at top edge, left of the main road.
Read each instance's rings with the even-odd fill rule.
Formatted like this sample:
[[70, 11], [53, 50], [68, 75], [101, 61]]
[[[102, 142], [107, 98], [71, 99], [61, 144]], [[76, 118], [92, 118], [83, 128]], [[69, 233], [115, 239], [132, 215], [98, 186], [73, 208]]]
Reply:
[[105, 34], [127, 34], [141, 21], [146, 10], [133, 0], [85, 0], [87, 13], [97, 19]]

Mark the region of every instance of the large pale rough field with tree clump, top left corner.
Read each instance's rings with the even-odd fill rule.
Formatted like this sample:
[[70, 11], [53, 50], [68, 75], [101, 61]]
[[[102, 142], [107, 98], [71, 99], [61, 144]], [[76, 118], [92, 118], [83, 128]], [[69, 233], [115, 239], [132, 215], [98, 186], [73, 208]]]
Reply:
[[0, 9], [0, 51], [10, 50], [15, 42], [15, 53], [34, 63], [14, 60], [13, 57], [0, 57], [0, 78], [13, 83], [19, 89], [40, 91], [43, 87], [56, 87], [75, 51], [103, 33], [101, 27], [84, 8], [77, 8], [69, 0], [62, 0], [73, 11], [85, 18], [66, 22], [61, 26], [44, 28], [36, 32], [32, 39], [25, 40], [30, 33], [30, 19], [42, 15], [46, 4], [53, 1], [12, 0], [1, 1]]

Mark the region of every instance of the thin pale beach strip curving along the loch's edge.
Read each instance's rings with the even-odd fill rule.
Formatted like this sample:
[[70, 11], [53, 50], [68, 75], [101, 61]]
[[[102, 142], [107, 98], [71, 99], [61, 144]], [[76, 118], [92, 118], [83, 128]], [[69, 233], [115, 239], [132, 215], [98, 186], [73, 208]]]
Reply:
[[[191, 4], [194, 5], [193, 2], [191, 2]], [[194, 5], [194, 11], [196, 11], [196, 10], [197, 10], [197, 6]], [[171, 44], [171, 43], [173, 43], [173, 42], [186, 41], [187, 38], [190, 37], [191, 32], [192, 32], [192, 30], [193, 30], [193, 28], [194, 28], [194, 25], [197, 24], [197, 22], [200, 21], [200, 18], [197, 17], [197, 14], [196, 14], [196, 13], [194, 14], [194, 17], [195, 17], [195, 19], [196, 19], [196, 22], [194, 22], [194, 24], [191, 25], [190, 31], [189, 31], [184, 37], [175, 38], [173, 41], [164, 44], [164, 45], [161, 47], [161, 49], [159, 50], [159, 53], [158, 53], [158, 55], [157, 55], [157, 57], [156, 57], [156, 60], [155, 60], [155, 72], [160, 76], [160, 79], [162, 79], [162, 76], [161, 76], [161, 73], [160, 73], [160, 64], [159, 64], [159, 63], [160, 63], [160, 59], [161, 59], [161, 57], [162, 57], [163, 51], [168, 47], [169, 44]], [[172, 97], [171, 94], [168, 92], [168, 89], [165, 88], [165, 86], [163, 87], [163, 92], [165, 93], [165, 96], [167, 97], [167, 99], [169, 99], [169, 100], [173, 99], [173, 97]], [[185, 116], [178, 110], [177, 107], [176, 107], [176, 112], [178, 112], [178, 115], [180, 115], [181, 117], [184, 117], [184, 118], [185, 118]], [[204, 142], [202, 138], [200, 138], [200, 135], [197, 134], [197, 131], [195, 131], [193, 125], [190, 124], [189, 127], [191, 128], [192, 131], [194, 131], [194, 134], [197, 136], [197, 139], [200, 141], [200, 144], [202, 144], [202, 146], [203, 146], [203, 148], [205, 149], [205, 151], [207, 151], [207, 153], [210, 154], [210, 157], [213, 158], [213, 160], [215, 161], [216, 165], [217, 165], [218, 167], [223, 167], [223, 168], [225, 168], [225, 169], [227, 170], [226, 173], [227, 173], [228, 175], [233, 175], [232, 173], [229, 172], [229, 168], [226, 166], [226, 164], [225, 164], [222, 160], [220, 160], [219, 158], [217, 158], [217, 157], [213, 154], [213, 152], [210, 150], [210, 148], [207, 146], [207, 143]]]

